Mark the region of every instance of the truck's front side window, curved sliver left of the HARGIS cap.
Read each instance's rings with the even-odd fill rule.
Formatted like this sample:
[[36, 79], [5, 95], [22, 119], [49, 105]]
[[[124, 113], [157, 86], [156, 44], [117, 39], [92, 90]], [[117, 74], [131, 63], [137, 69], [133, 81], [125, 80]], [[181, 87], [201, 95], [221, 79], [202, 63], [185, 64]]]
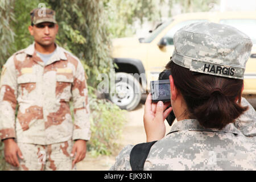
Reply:
[[193, 19], [193, 20], [185, 20], [183, 22], [177, 23], [174, 27], [171, 28], [171, 30], [169, 30], [167, 32], [167, 34], [164, 36], [164, 38], [166, 38], [167, 40], [167, 46], [168, 45], [174, 45], [174, 34], [177, 30], [179, 30], [181, 27], [186, 26], [188, 24], [191, 23], [196, 23], [196, 22], [203, 22], [203, 21], [207, 21], [205, 19]]

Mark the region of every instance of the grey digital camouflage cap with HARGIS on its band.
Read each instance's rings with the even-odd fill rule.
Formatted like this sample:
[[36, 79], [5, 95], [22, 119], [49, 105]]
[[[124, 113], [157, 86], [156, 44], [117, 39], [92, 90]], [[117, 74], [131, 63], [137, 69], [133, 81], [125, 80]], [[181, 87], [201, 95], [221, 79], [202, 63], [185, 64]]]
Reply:
[[251, 39], [232, 26], [197, 22], [174, 35], [172, 61], [194, 72], [243, 79]]

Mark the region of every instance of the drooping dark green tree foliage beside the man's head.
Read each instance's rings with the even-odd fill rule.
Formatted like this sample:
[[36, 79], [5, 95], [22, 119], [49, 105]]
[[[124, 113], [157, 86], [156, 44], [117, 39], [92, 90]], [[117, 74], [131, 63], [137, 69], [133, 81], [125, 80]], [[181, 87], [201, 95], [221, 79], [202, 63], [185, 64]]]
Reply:
[[102, 1], [48, 0], [47, 3], [56, 11], [60, 26], [57, 43], [84, 62], [88, 85], [96, 88], [97, 76], [113, 68], [108, 19]]

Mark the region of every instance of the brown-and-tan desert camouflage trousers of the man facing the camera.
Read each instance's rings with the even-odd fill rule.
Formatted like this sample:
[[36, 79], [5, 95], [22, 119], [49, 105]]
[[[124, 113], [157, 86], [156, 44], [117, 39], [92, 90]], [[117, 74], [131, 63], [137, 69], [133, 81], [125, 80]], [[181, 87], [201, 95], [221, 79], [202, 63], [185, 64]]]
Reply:
[[39, 145], [31, 143], [17, 143], [22, 152], [23, 159], [19, 158], [19, 167], [9, 165], [11, 171], [70, 171], [72, 160], [70, 156], [73, 142]]

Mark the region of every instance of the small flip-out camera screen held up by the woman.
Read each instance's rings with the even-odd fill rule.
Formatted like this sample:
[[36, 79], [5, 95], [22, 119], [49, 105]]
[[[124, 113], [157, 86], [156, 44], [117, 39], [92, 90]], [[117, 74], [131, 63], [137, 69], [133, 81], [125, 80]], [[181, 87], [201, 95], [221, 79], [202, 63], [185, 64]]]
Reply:
[[157, 80], [150, 82], [152, 102], [168, 102], [171, 100], [170, 96], [170, 80]]

